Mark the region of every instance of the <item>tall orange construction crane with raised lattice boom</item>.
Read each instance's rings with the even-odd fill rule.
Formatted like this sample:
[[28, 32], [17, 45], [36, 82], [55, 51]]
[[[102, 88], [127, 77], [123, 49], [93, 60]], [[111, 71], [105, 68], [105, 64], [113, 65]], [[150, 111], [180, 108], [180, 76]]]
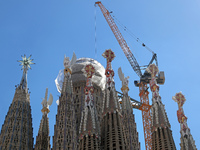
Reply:
[[[129, 63], [131, 64], [133, 70], [136, 72], [136, 74], [140, 77], [140, 81], [135, 81], [135, 85], [139, 87], [139, 96], [140, 96], [140, 104], [138, 108], [142, 111], [142, 120], [143, 120], [143, 129], [144, 129], [144, 138], [145, 138], [145, 147], [146, 150], [152, 149], [152, 139], [151, 139], [151, 114], [150, 114], [150, 108], [149, 105], [149, 97], [148, 97], [148, 87], [147, 84], [149, 83], [151, 76], [146, 71], [144, 74], [142, 74], [141, 68], [132, 54], [129, 46], [127, 45], [126, 41], [124, 40], [121, 32], [119, 31], [117, 25], [114, 22], [114, 19], [110, 15], [110, 12], [103, 6], [103, 4], [98, 1], [95, 3], [98, 5], [108, 23], [110, 26], [113, 34], [115, 35], [115, 38], [117, 39], [121, 49], [123, 50], [125, 56], [127, 57]], [[145, 47], [145, 44], [142, 44]], [[157, 56], [155, 53], [153, 53], [153, 57], [151, 61], [149, 62], [148, 66], [153, 62], [156, 61], [157, 64]], [[164, 84], [165, 78], [164, 78], [164, 72], [160, 72], [160, 74], [157, 77], [157, 83]]]

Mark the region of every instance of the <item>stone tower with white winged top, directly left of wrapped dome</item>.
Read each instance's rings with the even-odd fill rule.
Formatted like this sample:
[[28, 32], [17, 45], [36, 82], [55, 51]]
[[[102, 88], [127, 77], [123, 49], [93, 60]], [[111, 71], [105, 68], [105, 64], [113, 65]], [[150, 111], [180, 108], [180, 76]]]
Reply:
[[65, 57], [65, 69], [60, 71], [60, 73], [63, 73], [64, 79], [62, 88], [58, 88], [61, 91], [61, 96], [56, 115], [56, 125], [54, 126], [53, 150], [77, 150], [77, 132], [71, 80], [71, 66], [75, 61], [75, 54], [71, 61], [69, 61], [68, 57]]

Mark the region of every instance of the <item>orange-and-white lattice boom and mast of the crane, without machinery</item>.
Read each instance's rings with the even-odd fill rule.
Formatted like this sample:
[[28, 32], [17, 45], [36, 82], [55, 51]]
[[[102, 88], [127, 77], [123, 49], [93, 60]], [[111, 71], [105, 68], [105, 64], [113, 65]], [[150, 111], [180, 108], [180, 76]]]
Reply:
[[[126, 55], [126, 57], [129, 61], [129, 63], [131, 64], [133, 70], [141, 78], [142, 72], [141, 72], [140, 66], [139, 66], [136, 58], [132, 54], [128, 44], [124, 40], [124, 38], [123, 38], [121, 32], [119, 31], [117, 25], [115, 24], [114, 19], [112, 18], [109, 11], [103, 6], [103, 4], [100, 1], [96, 2], [95, 4], [97, 4], [100, 7], [108, 25], [110, 26], [115, 38], [117, 39], [121, 49], [123, 50], [124, 54]], [[143, 83], [141, 83], [141, 84], [143, 85]], [[142, 118], [144, 118], [143, 119], [143, 127], [144, 127], [144, 137], [145, 137], [146, 150], [151, 150], [151, 147], [152, 147], [151, 138], [150, 138], [151, 137], [151, 130], [149, 130], [150, 126], [151, 126], [151, 119], [149, 119], [149, 118], [151, 116], [150, 116], [150, 112], [146, 112], [150, 109], [149, 99], [145, 99], [145, 98], [148, 97], [148, 95], [145, 95], [145, 93], [144, 94], [141, 93], [140, 97], [141, 97], [140, 99], [142, 100], [141, 103], [145, 102], [145, 103], [143, 103], [143, 106], [140, 108], [140, 110], [142, 111]], [[145, 118], [148, 118], [148, 119], [145, 119]]]

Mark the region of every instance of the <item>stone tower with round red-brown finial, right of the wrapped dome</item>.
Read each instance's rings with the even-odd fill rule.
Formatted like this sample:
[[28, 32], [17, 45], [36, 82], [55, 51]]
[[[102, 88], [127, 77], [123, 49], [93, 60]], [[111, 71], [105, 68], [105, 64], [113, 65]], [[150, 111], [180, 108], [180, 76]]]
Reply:
[[114, 71], [111, 61], [114, 53], [109, 49], [103, 53], [107, 59], [106, 66], [106, 89], [105, 99], [103, 99], [103, 118], [101, 123], [101, 145], [105, 150], [126, 150], [126, 139], [122, 125], [122, 114], [120, 113], [119, 103], [115, 90]]

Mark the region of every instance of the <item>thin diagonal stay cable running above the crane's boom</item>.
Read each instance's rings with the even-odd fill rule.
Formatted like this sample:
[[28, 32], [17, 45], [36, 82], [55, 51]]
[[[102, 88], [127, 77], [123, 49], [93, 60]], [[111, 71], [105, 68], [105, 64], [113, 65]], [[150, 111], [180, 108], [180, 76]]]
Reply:
[[[113, 13], [112, 11], [110, 14]], [[149, 47], [147, 47], [135, 34], [133, 34], [125, 25], [123, 25], [114, 15], [112, 15], [115, 22], [120, 25], [124, 31], [126, 31], [131, 37], [133, 37], [138, 43], [142, 44], [143, 47], [145, 47], [148, 51], [150, 51], [152, 54], [155, 54], [153, 50], [151, 50]]]

